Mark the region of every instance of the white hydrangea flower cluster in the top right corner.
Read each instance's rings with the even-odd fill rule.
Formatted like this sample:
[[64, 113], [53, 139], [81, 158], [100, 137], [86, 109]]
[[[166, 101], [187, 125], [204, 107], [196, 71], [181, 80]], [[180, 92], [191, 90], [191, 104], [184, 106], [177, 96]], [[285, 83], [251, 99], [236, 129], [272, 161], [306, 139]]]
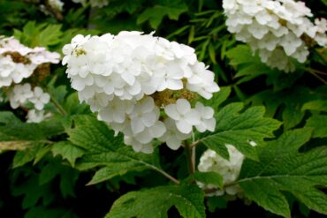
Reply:
[[303, 2], [293, 0], [224, 0], [228, 31], [236, 39], [258, 50], [263, 63], [281, 71], [294, 71], [292, 58], [304, 63], [307, 43], [327, 46], [326, 19], [308, 17], [312, 13]]

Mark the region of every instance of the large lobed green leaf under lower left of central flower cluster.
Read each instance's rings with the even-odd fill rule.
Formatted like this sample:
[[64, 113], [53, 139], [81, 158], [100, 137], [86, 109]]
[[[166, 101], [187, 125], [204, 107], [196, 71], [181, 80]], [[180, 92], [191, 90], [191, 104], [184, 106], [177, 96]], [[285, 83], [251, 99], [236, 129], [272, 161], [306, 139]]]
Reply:
[[72, 117], [73, 127], [67, 129], [72, 144], [86, 150], [77, 161], [78, 169], [102, 167], [89, 184], [122, 176], [129, 171], [154, 169], [163, 172], [158, 154], [141, 154], [123, 144], [121, 135], [114, 136], [106, 124], [91, 116]]

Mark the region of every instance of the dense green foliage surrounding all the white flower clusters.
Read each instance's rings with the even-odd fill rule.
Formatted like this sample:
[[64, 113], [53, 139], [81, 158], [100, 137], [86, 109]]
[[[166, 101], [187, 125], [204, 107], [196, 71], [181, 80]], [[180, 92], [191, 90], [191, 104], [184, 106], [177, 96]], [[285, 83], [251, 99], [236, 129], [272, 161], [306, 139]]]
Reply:
[[[53, 117], [27, 124], [24, 109], [0, 102], [0, 217], [327, 214], [327, 49], [312, 48], [306, 64], [285, 73], [235, 41], [221, 1], [110, 0], [103, 8], [65, 1], [63, 12], [48, 14], [40, 2], [0, 0], [0, 35], [61, 52], [76, 34], [156, 30], [192, 46], [215, 72], [221, 91], [202, 101], [215, 109], [217, 126], [196, 132], [185, 149], [157, 143], [153, 154], [135, 153], [79, 102], [65, 67], [52, 64], [39, 86], [51, 95]], [[327, 1], [306, 2], [326, 17]], [[209, 197], [195, 184], [223, 186], [217, 173], [194, 172], [193, 146], [197, 163], [207, 147], [228, 159], [225, 144], [246, 156], [234, 182], [242, 199]]]

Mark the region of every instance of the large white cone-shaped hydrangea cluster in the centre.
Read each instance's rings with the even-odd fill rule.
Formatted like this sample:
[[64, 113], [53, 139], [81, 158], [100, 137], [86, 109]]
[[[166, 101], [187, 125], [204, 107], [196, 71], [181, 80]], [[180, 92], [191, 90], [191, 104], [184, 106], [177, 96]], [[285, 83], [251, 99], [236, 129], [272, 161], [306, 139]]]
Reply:
[[[214, 73], [199, 63], [194, 49], [140, 32], [117, 36], [77, 35], [65, 45], [63, 64], [79, 92], [98, 118], [123, 132], [125, 144], [151, 153], [152, 140], [171, 149], [199, 132], [214, 131], [214, 111], [197, 102], [219, 91]], [[164, 115], [165, 114], [165, 115]]]

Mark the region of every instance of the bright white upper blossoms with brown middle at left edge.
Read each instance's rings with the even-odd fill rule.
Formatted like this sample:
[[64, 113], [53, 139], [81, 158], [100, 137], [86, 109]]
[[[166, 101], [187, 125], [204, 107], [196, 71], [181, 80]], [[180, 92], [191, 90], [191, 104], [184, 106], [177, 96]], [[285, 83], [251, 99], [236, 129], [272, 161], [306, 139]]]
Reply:
[[0, 88], [29, 78], [40, 64], [59, 63], [59, 57], [42, 47], [30, 49], [13, 37], [0, 37]]

